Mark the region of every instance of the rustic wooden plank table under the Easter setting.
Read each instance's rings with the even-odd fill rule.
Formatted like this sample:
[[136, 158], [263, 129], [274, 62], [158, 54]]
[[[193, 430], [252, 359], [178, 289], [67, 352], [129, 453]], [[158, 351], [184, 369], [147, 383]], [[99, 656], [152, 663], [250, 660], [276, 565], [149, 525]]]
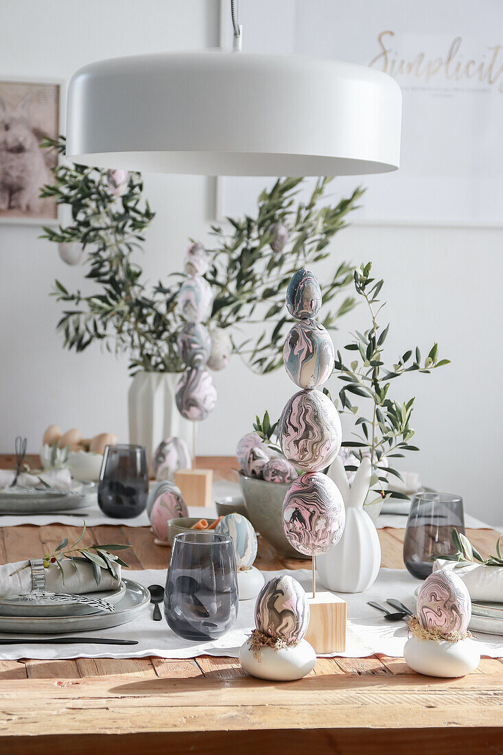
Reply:
[[[213, 466], [228, 468], [223, 460]], [[0, 558], [42, 554], [76, 532], [64, 525], [0, 529]], [[404, 530], [378, 532], [382, 565], [403, 568]], [[494, 549], [495, 532], [468, 536], [481, 553]], [[154, 545], [147, 528], [94, 527], [85, 536], [92, 541], [131, 544], [123, 552], [131, 569], [168, 564], [169, 550]], [[259, 569], [309, 566], [259, 543]], [[418, 676], [403, 658], [385, 655], [319, 658], [309, 676], [289, 683], [252, 679], [236, 659], [209, 656], [0, 661], [0, 752], [500, 753], [502, 682], [502, 662], [489, 658], [459, 680]]]

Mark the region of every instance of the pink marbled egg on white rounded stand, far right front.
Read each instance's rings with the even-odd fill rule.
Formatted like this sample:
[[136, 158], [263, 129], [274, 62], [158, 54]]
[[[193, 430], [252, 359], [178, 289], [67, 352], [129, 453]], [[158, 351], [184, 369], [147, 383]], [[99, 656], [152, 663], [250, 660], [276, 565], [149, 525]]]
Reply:
[[450, 633], [463, 636], [471, 619], [471, 598], [464, 582], [452, 570], [440, 569], [424, 580], [416, 607], [424, 630], [445, 635], [446, 639], [409, 637], [403, 649], [412, 670], [444, 678], [464, 676], [480, 663], [478, 643], [470, 636], [449, 640]]

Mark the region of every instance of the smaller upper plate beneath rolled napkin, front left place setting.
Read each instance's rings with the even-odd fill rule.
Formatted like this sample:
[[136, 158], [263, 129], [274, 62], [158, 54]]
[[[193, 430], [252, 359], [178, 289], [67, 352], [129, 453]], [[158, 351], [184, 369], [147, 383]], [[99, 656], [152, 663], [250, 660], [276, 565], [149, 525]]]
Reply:
[[[99, 613], [101, 609], [89, 606], [88, 602], [85, 601], [86, 598], [104, 600], [110, 606], [116, 606], [116, 603], [124, 596], [125, 590], [124, 581], [121, 581], [116, 590], [95, 591], [93, 593], [85, 593], [82, 596], [62, 596], [57, 599], [57, 602], [54, 602], [54, 599], [51, 598], [51, 595], [54, 593], [48, 593], [47, 597], [41, 594], [37, 596], [23, 595], [14, 598], [4, 598], [0, 599], [0, 615], [32, 618], [87, 616]], [[78, 602], [81, 597], [83, 601]]]

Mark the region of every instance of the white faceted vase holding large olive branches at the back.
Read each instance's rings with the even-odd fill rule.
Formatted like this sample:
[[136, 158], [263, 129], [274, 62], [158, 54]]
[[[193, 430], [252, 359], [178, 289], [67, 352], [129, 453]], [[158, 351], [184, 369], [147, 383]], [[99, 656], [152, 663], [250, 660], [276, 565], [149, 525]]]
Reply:
[[169, 436], [183, 439], [192, 452], [193, 423], [177, 410], [174, 393], [181, 374], [137, 372], [128, 392], [129, 442], [147, 448], [149, 464], [159, 443]]

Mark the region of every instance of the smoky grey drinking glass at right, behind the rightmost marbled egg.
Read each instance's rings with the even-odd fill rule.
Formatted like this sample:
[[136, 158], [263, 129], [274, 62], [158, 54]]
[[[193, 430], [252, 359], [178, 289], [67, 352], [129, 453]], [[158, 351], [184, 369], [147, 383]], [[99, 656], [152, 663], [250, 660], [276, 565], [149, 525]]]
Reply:
[[450, 493], [418, 493], [412, 499], [403, 540], [403, 561], [413, 577], [426, 579], [432, 556], [456, 552], [452, 530], [464, 535], [463, 499]]

